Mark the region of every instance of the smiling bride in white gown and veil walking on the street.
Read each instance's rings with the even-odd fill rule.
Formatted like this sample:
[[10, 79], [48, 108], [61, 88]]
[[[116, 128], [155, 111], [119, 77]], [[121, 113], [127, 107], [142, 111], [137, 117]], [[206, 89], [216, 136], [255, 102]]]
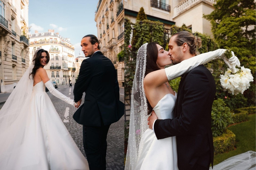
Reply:
[[38, 49], [19, 83], [0, 110], [0, 169], [87, 170], [88, 162], [62, 123], [45, 86], [57, 91], [43, 69], [49, 53]]

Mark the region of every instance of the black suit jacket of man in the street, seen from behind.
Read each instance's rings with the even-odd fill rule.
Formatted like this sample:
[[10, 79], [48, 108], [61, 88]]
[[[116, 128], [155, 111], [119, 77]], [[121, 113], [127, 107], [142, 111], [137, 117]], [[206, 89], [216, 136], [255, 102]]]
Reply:
[[74, 85], [74, 100], [79, 101], [85, 92], [84, 104], [73, 118], [87, 126], [110, 125], [124, 115], [124, 104], [119, 101], [116, 70], [102, 52], [95, 52], [83, 60]]

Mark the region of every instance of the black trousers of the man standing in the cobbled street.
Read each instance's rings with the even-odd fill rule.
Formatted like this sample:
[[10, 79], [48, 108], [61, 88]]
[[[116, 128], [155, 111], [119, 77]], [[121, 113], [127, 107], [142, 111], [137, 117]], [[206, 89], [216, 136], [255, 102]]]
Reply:
[[83, 125], [83, 144], [90, 170], [106, 169], [107, 132], [110, 125]]

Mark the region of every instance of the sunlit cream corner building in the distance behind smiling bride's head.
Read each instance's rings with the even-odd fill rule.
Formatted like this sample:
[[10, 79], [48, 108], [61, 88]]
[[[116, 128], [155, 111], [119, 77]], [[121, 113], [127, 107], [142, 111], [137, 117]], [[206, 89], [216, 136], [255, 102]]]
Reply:
[[50, 55], [48, 65], [44, 66], [51, 81], [58, 85], [75, 84], [75, 57], [74, 45], [69, 38], [64, 38], [55, 33], [54, 30], [29, 34], [29, 58], [32, 59], [37, 48], [47, 50]]

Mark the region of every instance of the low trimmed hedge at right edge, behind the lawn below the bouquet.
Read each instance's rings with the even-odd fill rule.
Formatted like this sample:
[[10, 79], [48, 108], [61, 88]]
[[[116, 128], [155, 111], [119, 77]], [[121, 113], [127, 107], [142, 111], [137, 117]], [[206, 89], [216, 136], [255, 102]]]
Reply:
[[255, 113], [256, 107], [247, 107], [247, 108], [239, 108], [234, 110], [234, 114], [232, 114], [232, 119], [234, 123], [244, 122], [248, 119], [248, 114]]

